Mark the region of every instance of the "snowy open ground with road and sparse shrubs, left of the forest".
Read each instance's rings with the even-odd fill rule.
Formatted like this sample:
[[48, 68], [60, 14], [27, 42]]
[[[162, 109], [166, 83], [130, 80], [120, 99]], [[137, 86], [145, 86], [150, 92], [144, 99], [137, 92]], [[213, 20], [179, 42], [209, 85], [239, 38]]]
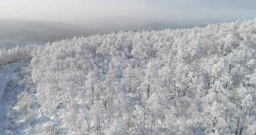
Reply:
[[[19, 62], [8, 68], [2, 76], [0, 135], [35, 135], [35, 126], [44, 124], [47, 119], [40, 113], [40, 105], [36, 102], [36, 86], [31, 83], [28, 67], [25, 62]], [[32, 106], [24, 108], [21, 104]]]

